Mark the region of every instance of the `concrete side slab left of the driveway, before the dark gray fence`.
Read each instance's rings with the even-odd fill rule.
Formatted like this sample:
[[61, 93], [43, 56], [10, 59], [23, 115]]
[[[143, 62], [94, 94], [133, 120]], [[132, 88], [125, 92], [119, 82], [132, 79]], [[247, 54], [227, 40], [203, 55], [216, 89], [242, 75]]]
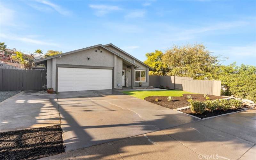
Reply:
[[0, 103], [0, 132], [60, 124], [56, 94], [22, 91]]

